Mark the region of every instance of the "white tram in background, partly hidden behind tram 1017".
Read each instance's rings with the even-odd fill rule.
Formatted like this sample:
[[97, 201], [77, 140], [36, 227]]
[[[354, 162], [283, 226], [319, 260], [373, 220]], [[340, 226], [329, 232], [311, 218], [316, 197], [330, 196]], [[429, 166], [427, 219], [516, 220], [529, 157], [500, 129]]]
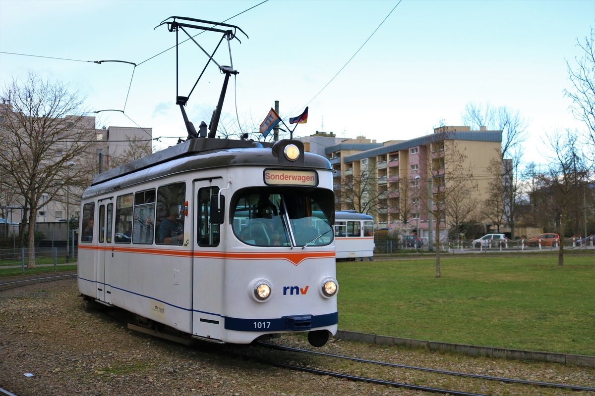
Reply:
[[374, 255], [374, 218], [369, 214], [336, 211], [334, 230], [337, 259]]

